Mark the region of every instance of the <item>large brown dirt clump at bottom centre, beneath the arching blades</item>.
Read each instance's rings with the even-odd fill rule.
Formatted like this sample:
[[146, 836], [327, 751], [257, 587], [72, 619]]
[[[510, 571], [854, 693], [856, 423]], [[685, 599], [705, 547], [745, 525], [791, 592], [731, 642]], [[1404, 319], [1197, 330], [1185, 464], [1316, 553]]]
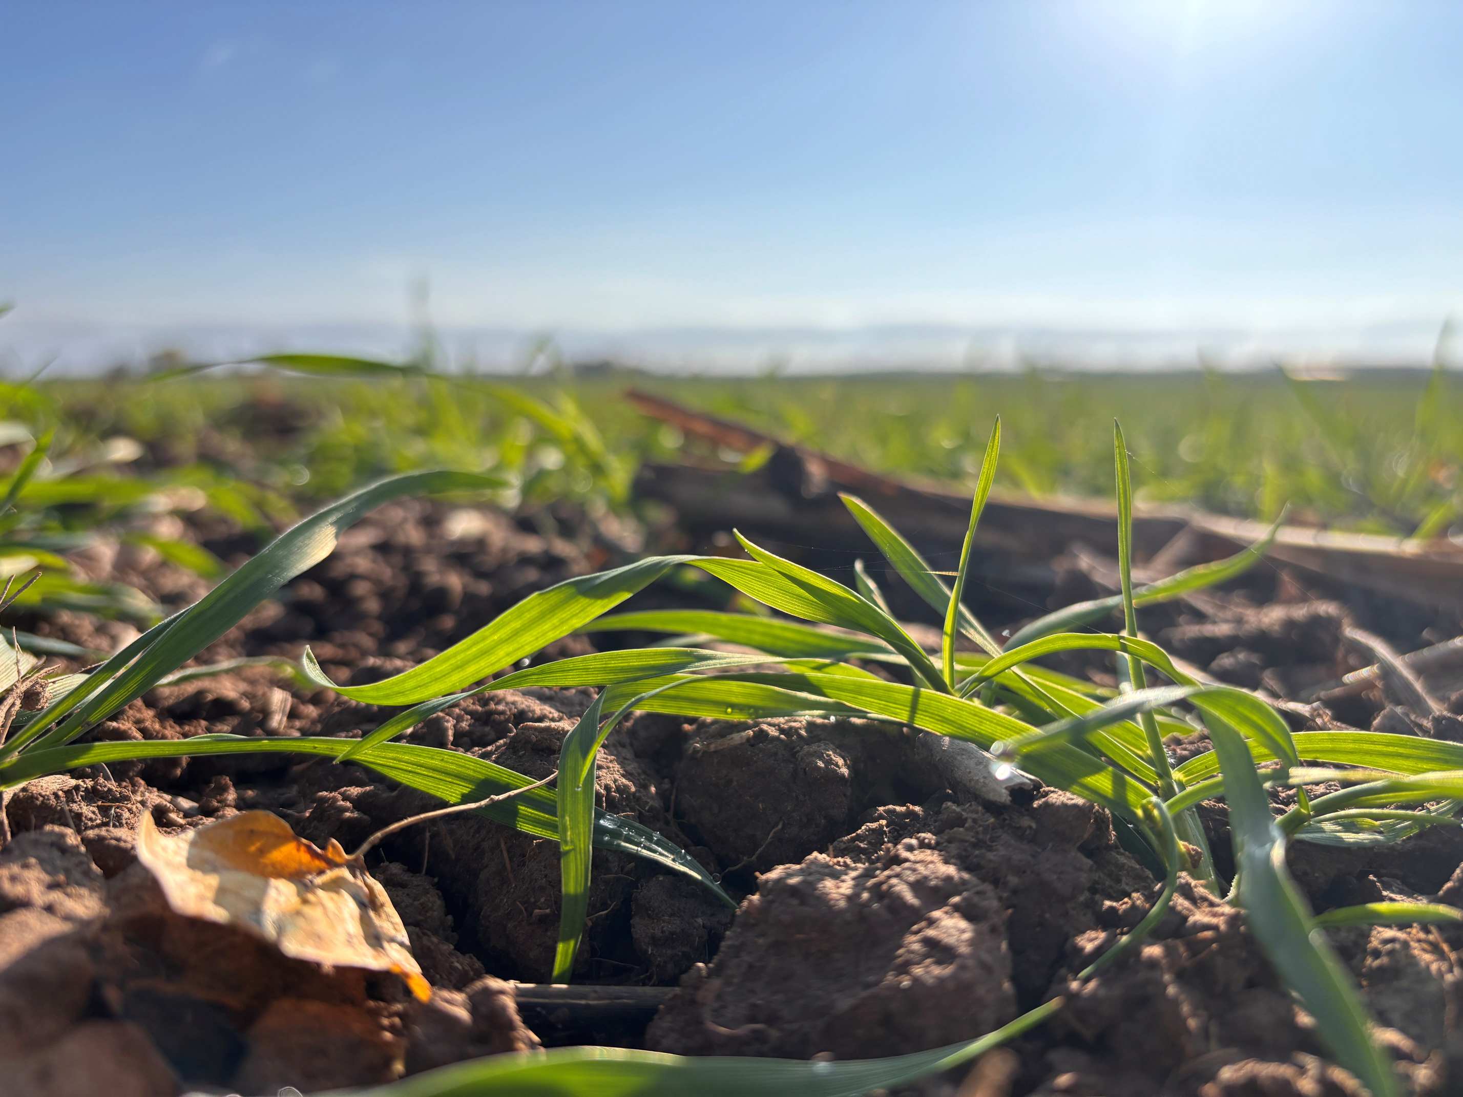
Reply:
[[1007, 809], [884, 807], [828, 853], [764, 873], [647, 1038], [865, 1058], [988, 1031], [1034, 1005], [1067, 940], [1096, 924], [1097, 895], [1144, 879], [1105, 813], [1055, 790]]

